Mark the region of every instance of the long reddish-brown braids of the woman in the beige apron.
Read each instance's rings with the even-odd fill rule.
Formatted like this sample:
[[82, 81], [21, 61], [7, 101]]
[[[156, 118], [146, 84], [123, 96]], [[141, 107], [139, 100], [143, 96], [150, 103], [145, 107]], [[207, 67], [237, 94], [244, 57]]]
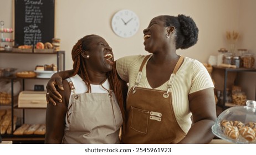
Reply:
[[[81, 79], [85, 82], [86, 86], [88, 87], [87, 92], [91, 92], [91, 85], [89, 76], [87, 73], [86, 65], [85, 65], [85, 59], [83, 56], [81, 56], [81, 52], [85, 50], [89, 50], [89, 44], [93, 40], [93, 36], [96, 36], [95, 34], [86, 35], [85, 37], [78, 40], [78, 42], [73, 46], [73, 49], [71, 51], [72, 60], [73, 60], [73, 76], [76, 74], [81, 75]], [[118, 101], [120, 110], [122, 112], [123, 120], [125, 120], [125, 111], [124, 111], [124, 98], [122, 96], [122, 89], [120, 85], [120, 81], [117, 76], [117, 71], [115, 67], [115, 63], [113, 65], [113, 69], [106, 73], [107, 80], [109, 80], [110, 83], [110, 89], [114, 91], [116, 99]]]

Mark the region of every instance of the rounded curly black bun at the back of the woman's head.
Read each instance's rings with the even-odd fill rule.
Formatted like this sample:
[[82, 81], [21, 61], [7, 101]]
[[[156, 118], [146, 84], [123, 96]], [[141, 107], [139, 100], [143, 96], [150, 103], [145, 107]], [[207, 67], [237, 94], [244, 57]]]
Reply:
[[199, 30], [194, 20], [189, 16], [179, 14], [178, 21], [181, 25], [181, 33], [185, 37], [180, 48], [187, 49], [197, 43]]

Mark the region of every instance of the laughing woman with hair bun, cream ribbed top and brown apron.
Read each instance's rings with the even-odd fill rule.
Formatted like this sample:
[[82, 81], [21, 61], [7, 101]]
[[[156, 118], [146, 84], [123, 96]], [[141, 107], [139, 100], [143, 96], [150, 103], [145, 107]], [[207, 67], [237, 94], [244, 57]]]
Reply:
[[[209, 143], [216, 121], [211, 76], [199, 61], [176, 54], [197, 43], [196, 23], [183, 14], [157, 16], [143, 33], [150, 55], [116, 60], [117, 73], [129, 82], [122, 143]], [[52, 76], [48, 102], [62, 99], [55, 85], [68, 76]]]

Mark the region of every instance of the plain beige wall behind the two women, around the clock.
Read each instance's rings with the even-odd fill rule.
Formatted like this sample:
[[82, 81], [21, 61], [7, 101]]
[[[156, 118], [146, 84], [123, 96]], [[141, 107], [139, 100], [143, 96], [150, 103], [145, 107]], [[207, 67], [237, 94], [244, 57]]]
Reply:
[[[4, 20], [5, 27], [13, 27], [13, 2], [0, 0], [0, 20]], [[241, 33], [238, 48], [247, 48], [256, 53], [254, 0], [55, 0], [55, 6], [55, 37], [61, 39], [61, 49], [66, 51], [66, 69], [71, 69], [73, 64], [71, 48], [87, 34], [104, 37], [114, 49], [116, 59], [125, 55], [147, 54], [144, 51], [142, 30], [153, 17], [162, 14], [186, 14], [197, 23], [198, 43], [190, 49], [178, 50], [178, 54], [207, 63], [209, 55], [217, 55], [219, 48], [228, 48], [225, 39], [227, 30]], [[111, 30], [111, 17], [120, 9], [131, 9], [140, 18], [139, 32], [131, 38], [117, 37]], [[35, 65], [55, 61], [51, 57], [37, 61], [33, 58], [1, 55], [0, 66], [19, 66], [20, 70], [33, 70]], [[249, 82], [247, 79], [244, 82], [244, 89], [250, 99], [255, 99], [256, 78], [254, 74], [249, 76]]]

